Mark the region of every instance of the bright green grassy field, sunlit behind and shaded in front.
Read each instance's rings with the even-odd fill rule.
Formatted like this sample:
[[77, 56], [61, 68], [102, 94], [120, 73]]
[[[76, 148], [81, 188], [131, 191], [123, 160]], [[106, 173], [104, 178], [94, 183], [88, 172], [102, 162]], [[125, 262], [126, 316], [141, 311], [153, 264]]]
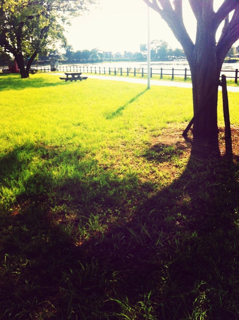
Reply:
[[190, 89], [0, 90], [0, 319], [239, 318], [237, 93], [226, 155], [221, 130], [218, 149], [181, 137]]

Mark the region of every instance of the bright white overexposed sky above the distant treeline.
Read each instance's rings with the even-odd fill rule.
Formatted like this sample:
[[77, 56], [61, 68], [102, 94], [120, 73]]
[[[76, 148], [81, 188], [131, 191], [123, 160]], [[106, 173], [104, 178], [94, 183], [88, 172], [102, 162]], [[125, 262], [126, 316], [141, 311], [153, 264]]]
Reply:
[[[215, 11], [222, 2], [214, 1]], [[183, 11], [184, 23], [194, 41], [196, 20], [188, 0], [183, 0]], [[72, 20], [66, 36], [74, 51], [139, 51], [139, 45], [147, 43], [147, 5], [143, 0], [100, 0], [100, 9], [92, 8], [89, 14]], [[181, 48], [166, 22], [150, 9], [150, 40], [155, 39], [166, 41], [173, 49]]]

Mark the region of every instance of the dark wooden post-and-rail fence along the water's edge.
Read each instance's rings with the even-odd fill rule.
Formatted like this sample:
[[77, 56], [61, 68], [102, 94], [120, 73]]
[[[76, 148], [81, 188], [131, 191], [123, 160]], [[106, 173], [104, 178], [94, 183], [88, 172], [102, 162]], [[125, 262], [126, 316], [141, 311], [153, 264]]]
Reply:
[[[38, 71], [42, 71], [42, 72], [46, 72], [46, 71], [50, 71], [49, 67], [41, 67], [38, 68]], [[136, 76], [137, 74], [140, 74], [142, 77], [144, 75], [147, 75], [147, 68], [117, 68], [113, 67], [113, 68], [106, 68], [106, 67], [94, 67], [94, 66], [59, 66], [58, 67], [58, 71], [63, 71], [63, 72], [82, 72], [82, 73], [93, 73], [93, 74], [114, 74], [116, 75], [120, 75], [123, 76], [123, 74], [126, 74], [127, 76], [129, 76], [130, 74], [133, 74], [134, 76]], [[179, 71], [181, 71], [180, 73], [178, 73]], [[235, 79], [235, 83], [237, 83], [238, 80], [238, 69], [235, 70], [221, 70], [221, 72], [230, 72], [230, 73], [235, 73], [234, 76], [227, 76], [227, 78], [233, 78]], [[171, 79], [174, 79], [174, 76], [181, 76], [184, 77], [184, 80], [187, 79], [187, 77], [191, 76], [190, 70], [187, 68], [184, 69], [164, 69], [164, 68], [160, 68], [160, 69], [153, 69], [150, 68], [150, 77], [152, 78], [152, 76], [158, 76], [159, 79], [162, 79], [163, 76], [171, 76]]]

